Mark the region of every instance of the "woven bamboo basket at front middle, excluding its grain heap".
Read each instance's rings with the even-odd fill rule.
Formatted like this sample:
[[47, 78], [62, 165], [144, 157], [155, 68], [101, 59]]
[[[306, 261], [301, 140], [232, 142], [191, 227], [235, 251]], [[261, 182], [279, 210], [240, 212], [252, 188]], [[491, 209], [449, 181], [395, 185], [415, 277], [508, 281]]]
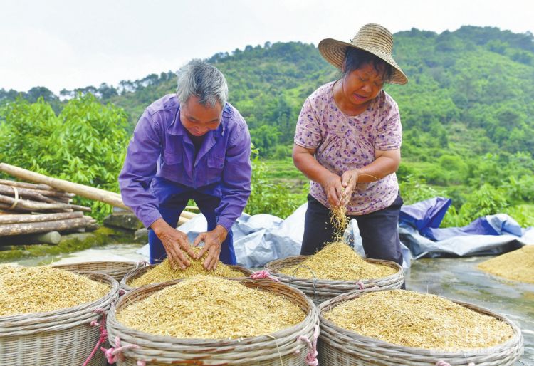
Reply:
[[108, 315], [110, 340], [115, 340], [118, 336], [121, 346], [137, 345], [135, 348], [123, 350], [124, 360], [119, 360], [117, 365], [135, 366], [137, 360], [145, 361], [146, 365], [305, 365], [305, 357], [310, 349], [307, 343], [298, 340], [298, 337], [303, 335], [313, 340], [315, 328], [318, 330], [317, 308], [301, 291], [275, 281], [245, 278], [232, 280], [250, 288], [277, 293], [299, 305], [306, 313], [303, 322], [271, 335], [236, 340], [179, 339], [143, 333], [127, 328], [117, 321], [116, 313], [122, 308], [179, 281], [182, 280], [136, 288], [112, 306]]

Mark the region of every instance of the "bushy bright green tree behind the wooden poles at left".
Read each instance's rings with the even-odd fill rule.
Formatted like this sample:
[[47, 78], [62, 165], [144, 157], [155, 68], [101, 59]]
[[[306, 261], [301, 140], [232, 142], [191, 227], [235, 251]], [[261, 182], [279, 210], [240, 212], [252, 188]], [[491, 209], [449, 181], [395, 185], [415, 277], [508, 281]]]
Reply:
[[[43, 98], [19, 98], [2, 110], [0, 161], [70, 182], [118, 192], [117, 177], [128, 135], [124, 110], [102, 105], [94, 95], [78, 95], [59, 115]], [[76, 197], [102, 219], [112, 207]]]

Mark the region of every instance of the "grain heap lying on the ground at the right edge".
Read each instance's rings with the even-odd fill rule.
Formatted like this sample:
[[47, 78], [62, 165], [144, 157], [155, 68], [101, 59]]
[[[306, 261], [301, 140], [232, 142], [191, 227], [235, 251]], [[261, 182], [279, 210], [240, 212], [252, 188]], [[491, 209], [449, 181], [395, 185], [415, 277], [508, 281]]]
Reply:
[[491, 258], [478, 269], [509, 280], [534, 283], [534, 245]]

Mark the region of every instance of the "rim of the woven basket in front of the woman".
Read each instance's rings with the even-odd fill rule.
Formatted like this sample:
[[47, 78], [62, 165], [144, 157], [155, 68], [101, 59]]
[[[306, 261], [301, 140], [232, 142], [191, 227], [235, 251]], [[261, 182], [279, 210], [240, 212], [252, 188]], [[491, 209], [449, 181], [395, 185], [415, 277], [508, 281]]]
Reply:
[[[288, 266], [294, 266], [294, 262], [303, 262], [310, 256], [288, 256], [286, 258], [280, 258], [275, 259], [274, 261], [270, 261], [265, 265], [265, 268], [271, 273], [271, 275], [283, 279], [284, 281], [309, 281], [314, 282], [314, 278], [300, 278], [295, 276], [288, 276], [284, 273], [278, 272], [277, 269], [273, 269], [272, 266], [280, 266], [279, 268], [286, 268]], [[373, 258], [362, 258], [367, 263], [373, 263], [373, 264], [382, 264], [384, 266], [389, 266], [392, 268], [397, 269], [397, 272], [395, 272], [392, 275], [386, 276], [386, 277], [380, 277], [380, 278], [362, 278], [359, 280], [328, 280], [324, 278], [315, 278], [315, 283], [318, 283], [320, 285], [347, 285], [347, 286], [355, 286], [358, 283], [368, 283], [371, 281], [393, 281], [395, 278], [399, 276], [399, 273], [404, 276], [404, 270], [402, 269], [402, 266], [399, 265], [399, 263], [395, 263], [394, 261], [386, 261], [384, 259], [373, 259]], [[294, 261], [293, 263], [288, 263], [287, 266], [283, 266], [285, 262], [287, 261]]]

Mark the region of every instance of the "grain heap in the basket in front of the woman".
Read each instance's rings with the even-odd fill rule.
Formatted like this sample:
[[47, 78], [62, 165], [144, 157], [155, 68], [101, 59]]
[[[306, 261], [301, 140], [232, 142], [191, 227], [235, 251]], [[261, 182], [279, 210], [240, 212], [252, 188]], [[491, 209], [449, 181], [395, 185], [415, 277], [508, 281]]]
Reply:
[[384, 278], [397, 273], [395, 268], [368, 263], [342, 241], [330, 243], [299, 265], [281, 268], [279, 271], [297, 278], [313, 278], [310, 270], [315, 278], [336, 281]]

